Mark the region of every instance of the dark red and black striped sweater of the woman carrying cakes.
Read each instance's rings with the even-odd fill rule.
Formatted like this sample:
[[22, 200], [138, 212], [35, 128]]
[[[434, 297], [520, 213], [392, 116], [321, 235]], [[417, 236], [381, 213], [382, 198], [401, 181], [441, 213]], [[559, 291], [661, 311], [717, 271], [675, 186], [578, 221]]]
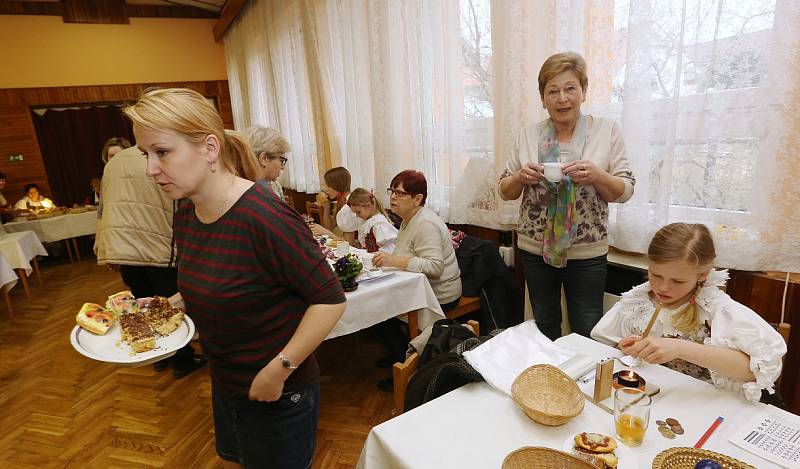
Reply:
[[[185, 201], [175, 215], [178, 289], [197, 325], [215, 386], [246, 395], [312, 304], [345, 301], [300, 215], [258, 184], [205, 224]], [[286, 388], [318, 379], [313, 354]]]

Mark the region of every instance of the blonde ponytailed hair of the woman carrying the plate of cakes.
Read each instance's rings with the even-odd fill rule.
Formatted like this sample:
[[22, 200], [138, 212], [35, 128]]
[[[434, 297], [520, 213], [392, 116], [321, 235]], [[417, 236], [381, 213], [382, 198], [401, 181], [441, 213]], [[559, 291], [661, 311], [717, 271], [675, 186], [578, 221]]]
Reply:
[[220, 142], [222, 167], [237, 176], [255, 181], [257, 160], [247, 141], [233, 130], [225, 130], [222, 118], [202, 94], [188, 88], [145, 91], [125, 108], [134, 126], [157, 132], [172, 131], [188, 142], [201, 144], [208, 135]]

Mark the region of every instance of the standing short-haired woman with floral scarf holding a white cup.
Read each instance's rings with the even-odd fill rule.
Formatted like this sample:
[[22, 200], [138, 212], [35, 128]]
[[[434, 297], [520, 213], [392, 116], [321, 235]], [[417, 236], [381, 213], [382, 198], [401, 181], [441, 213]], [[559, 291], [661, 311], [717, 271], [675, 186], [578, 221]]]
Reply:
[[[545, 61], [539, 95], [550, 117], [520, 131], [500, 180], [503, 199], [522, 196], [518, 245], [536, 324], [551, 339], [561, 335], [562, 286], [573, 332], [588, 337], [602, 317], [608, 204], [630, 199], [636, 182], [619, 125], [581, 113], [588, 86], [580, 55]], [[556, 182], [545, 163], [561, 166]]]

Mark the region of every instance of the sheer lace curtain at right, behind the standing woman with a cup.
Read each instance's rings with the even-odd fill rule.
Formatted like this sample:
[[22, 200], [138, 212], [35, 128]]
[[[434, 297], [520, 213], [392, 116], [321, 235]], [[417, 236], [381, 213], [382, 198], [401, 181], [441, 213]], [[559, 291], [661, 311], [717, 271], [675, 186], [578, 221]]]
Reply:
[[645, 252], [660, 226], [705, 223], [720, 266], [800, 270], [794, 2], [494, 0], [492, 8], [502, 83], [496, 168], [519, 127], [545, 117], [536, 88], [544, 59], [580, 52], [589, 67], [584, 112], [622, 124], [637, 178], [634, 197], [612, 204], [612, 245]]

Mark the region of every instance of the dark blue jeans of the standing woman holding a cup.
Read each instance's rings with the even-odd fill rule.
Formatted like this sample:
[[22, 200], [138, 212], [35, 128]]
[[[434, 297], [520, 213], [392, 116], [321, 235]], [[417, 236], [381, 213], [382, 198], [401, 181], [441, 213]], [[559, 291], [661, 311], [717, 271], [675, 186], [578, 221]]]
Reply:
[[608, 260], [570, 259], [564, 268], [553, 267], [542, 256], [522, 251], [522, 266], [536, 325], [552, 340], [561, 337], [561, 286], [567, 298], [569, 328], [589, 337], [603, 317], [603, 293]]

